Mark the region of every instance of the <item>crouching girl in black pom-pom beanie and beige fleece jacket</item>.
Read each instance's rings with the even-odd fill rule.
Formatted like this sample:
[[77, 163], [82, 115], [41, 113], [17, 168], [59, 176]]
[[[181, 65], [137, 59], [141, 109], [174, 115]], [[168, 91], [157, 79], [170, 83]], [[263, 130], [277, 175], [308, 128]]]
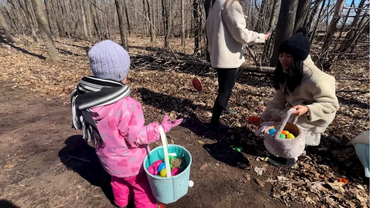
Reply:
[[[263, 111], [260, 121], [280, 122], [290, 108], [298, 117], [297, 124], [306, 130], [306, 145], [317, 146], [323, 133], [334, 120], [339, 108], [335, 79], [317, 68], [309, 55], [311, 48], [305, 27], [283, 41], [274, 73], [275, 95]], [[275, 166], [293, 166], [297, 158], [269, 158]]]

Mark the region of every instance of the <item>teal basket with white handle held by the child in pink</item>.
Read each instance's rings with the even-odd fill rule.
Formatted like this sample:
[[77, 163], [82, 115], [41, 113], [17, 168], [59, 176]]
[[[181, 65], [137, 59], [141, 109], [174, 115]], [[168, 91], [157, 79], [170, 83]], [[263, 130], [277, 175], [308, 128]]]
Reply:
[[[160, 128], [160, 131], [162, 128]], [[164, 132], [163, 132], [164, 134]], [[161, 134], [162, 137], [162, 134]], [[165, 137], [165, 135], [164, 135]], [[165, 142], [164, 142], [165, 140]], [[163, 204], [170, 204], [188, 193], [190, 166], [192, 162], [191, 154], [188, 150], [180, 145], [170, 144], [167, 146], [166, 138], [162, 137], [162, 144], [167, 147], [164, 151], [164, 146], [154, 148], [144, 159], [144, 170], [148, 175], [150, 187], [154, 197]], [[157, 160], [165, 158], [165, 152], [176, 153], [176, 158], [184, 156], [186, 168], [180, 174], [171, 177], [160, 177], [150, 174], [147, 168]], [[168, 158], [168, 157], [167, 157]], [[167, 160], [168, 161], [168, 160]], [[159, 173], [158, 173], [159, 174]]]

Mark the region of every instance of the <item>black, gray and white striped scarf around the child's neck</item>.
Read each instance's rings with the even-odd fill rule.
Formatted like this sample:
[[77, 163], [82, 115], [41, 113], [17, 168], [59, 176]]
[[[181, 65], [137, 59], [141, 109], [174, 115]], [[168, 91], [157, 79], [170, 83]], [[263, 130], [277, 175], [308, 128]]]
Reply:
[[72, 127], [82, 130], [86, 141], [94, 139], [96, 144], [103, 145], [90, 108], [116, 103], [129, 95], [130, 88], [121, 82], [93, 76], [83, 77], [71, 94]]

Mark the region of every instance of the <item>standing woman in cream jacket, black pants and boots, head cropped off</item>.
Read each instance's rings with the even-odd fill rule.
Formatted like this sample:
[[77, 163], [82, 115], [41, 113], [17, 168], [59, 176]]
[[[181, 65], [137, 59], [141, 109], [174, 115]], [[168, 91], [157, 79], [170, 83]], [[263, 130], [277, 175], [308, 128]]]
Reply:
[[264, 43], [269, 34], [246, 29], [241, 0], [212, 0], [207, 18], [207, 37], [211, 49], [211, 65], [218, 74], [218, 95], [213, 105], [210, 128], [219, 130], [222, 113], [236, 114], [228, 107], [238, 68], [244, 63], [243, 44]]

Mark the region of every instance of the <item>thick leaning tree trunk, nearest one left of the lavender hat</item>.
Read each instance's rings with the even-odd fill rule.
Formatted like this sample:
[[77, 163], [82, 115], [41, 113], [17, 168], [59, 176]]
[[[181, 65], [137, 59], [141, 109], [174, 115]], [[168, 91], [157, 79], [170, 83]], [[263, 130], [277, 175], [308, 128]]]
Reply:
[[46, 52], [48, 54], [47, 60], [61, 61], [58, 55], [58, 50], [55, 48], [53, 37], [51, 36], [50, 28], [48, 27], [47, 18], [44, 13], [43, 4], [41, 0], [31, 0], [32, 6], [36, 15], [38, 26], [40, 27], [41, 38], [43, 39]]

